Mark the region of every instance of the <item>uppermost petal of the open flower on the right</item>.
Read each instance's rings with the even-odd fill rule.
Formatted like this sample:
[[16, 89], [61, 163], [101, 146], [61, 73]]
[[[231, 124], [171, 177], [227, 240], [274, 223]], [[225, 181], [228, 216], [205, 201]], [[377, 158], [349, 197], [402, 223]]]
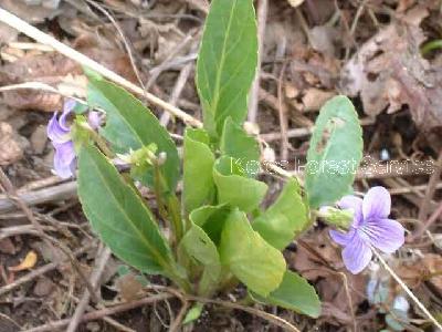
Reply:
[[390, 193], [383, 187], [372, 187], [364, 197], [362, 215], [365, 220], [387, 218], [390, 215]]

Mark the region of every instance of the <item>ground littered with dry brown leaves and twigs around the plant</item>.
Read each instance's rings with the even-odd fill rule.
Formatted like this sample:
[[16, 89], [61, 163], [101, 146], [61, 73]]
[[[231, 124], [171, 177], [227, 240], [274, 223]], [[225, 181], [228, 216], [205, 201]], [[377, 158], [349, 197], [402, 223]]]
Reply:
[[[260, 6], [266, 2], [257, 1]], [[373, 185], [390, 189], [392, 216], [410, 234], [407, 245], [388, 257], [388, 262], [422, 303], [441, 317], [440, 1], [305, 0], [299, 7], [295, 2], [303, 1], [269, 2], [266, 11], [259, 10], [260, 24], [266, 18], [266, 27], [261, 35], [261, 89], [252, 94], [252, 100], [259, 100], [259, 108], [251, 122], [257, 124], [276, 157], [288, 160], [285, 167], [294, 170], [305, 159], [308, 129], [323, 103], [338, 93], [354, 100], [364, 125], [366, 155], [355, 189], [366, 191]], [[208, 9], [204, 0], [0, 0], [0, 6], [134, 83], [140, 80], [149, 92], [200, 118], [193, 80], [196, 50]], [[439, 46], [433, 42], [438, 40]], [[43, 82], [65, 94], [84, 95], [85, 76], [72, 60], [6, 25], [0, 27], [0, 42], [1, 86]], [[10, 208], [10, 200], [0, 194], [2, 332], [71, 318], [85, 291], [78, 276], [90, 279], [96, 258], [104, 257], [82, 215], [74, 181], [61, 181], [51, 174], [53, 149], [45, 125], [61, 104], [59, 94], [41, 91], [1, 94], [0, 166], [25, 197], [43, 231], [76, 255], [77, 261], [74, 269], [65, 252], [53, 250], [23, 210]], [[169, 118], [164, 110], [155, 112], [171, 133], [182, 134], [179, 121]], [[270, 176], [269, 183], [273, 194], [281, 188], [281, 183]], [[346, 272], [339, 248], [329, 240], [325, 226], [317, 225], [305, 234], [285, 256], [290, 266], [316, 287], [324, 302], [323, 313], [318, 320], [311, 320], [274, 308], [265, 310], [299, 330], [346, 331], [355, 325], [358, 331], [392, 330], [402, 321], [409, 331], [431, 331], [410, 300], [406, 300], [408, 314], [394, 315], [394, 302], [398, 304], [403, 293], [377, 262], [358, 276]], [[25, 258], [28, 267], [19, 266]], [[131, 274], [118, 277], [119, 264], [114, 258], [106, 261], [99, 281], [103, 300], [101, 304], [91, 301], [95, 309], [137, 295], [139, 280]], [[151, 281], [165, 284], [161, 279]], [[367, 293], [368, 284], [373, 283], [378, 284], [378, 300], [382, 298], [378, 303], [372, 303]], [[156, 292], [160, 291], [151, 291]], [[125, 310], [113, 315], [113, 321], [81, 324], [78, 331], [166, 331], [179, 310], [176, 299], [158, 301]], [[254, 315], [232, 313], [218, 305], [207, 307], [202, 318], [187, 328], [192, 329], [276, 331]]]

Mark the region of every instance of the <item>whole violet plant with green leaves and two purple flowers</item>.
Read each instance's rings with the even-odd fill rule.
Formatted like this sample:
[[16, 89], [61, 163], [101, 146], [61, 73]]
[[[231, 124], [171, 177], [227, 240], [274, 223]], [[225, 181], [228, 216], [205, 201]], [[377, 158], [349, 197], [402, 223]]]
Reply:
[[[260, 144], [243, 128], [256, 62], [253, 1], [211, 1], [196, 79], [203, 127], [186, 128], [182, 158], [140, 101], [90, 75], [87, 104], [105, 118], [77, 113], [69, 126], [71, 102], [60, 118], [54, 115], [49, 126], [54, 168], [66, 177], [78, 156], [78, 196], [87, 219], [115, 256], [140, 272], [162, 274], [200, 297], [242, 283], [256, 302], [316, 318], [320, 302], [315, 289], [287, 269], [284, 248], [320, 216], [338, 229], [332, 237], [345, 246], [344, 261], [356, 273], [371, 258], [370, 246], [398, 249], [403, 229], [387, 219], [390, 204], [382, 189], [370, 190], [364, 203], [343, 198], [351, 194], [362, 156], [361, 127], [345, 96], [332, 98], [319, 112], [305, 185], [286, 179], [278, 197], [263, 208], [267, 185], [256, 178]], [[126, 170], [118, 170], [116, 159]], [[156, 209], [139, 186], [155, 194]], [[351, 210], [320, 209], [339, 199], [341, 208]]]

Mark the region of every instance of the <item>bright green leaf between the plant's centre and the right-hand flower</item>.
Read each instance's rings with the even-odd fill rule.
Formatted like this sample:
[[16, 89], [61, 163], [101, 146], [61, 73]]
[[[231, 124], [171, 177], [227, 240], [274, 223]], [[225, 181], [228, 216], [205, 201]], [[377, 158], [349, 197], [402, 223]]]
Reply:
[[284, 249], [308, 225], [307, 208], [299, 185], [290, 179], [276, 201], [252, 224], [269, 243]]

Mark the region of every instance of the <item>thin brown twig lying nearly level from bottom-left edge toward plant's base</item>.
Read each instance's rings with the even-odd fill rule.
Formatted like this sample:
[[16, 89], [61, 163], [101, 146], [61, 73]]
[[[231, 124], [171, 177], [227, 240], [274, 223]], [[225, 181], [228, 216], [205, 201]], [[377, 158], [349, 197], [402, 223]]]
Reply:
[[[158, 301], [165, 301], [167, 299], [172, 298], [172, 294], [169, 293], [162, 293], [162, 294], [158, 294], [158, 295], [151, 295], [148, 298], [144, 298], [137, 301], [133, 301], [133, 302], [128, 302], [128, 303], [122, 303], [122, 304], [117, 304], [115, 307], [110, 307], [110, 308], [105, 308], [105, 309], [101, 309], [101, 310], [95, 310], [92, 312], [88, 312], [86, 314], [84, 314], [81, 319], [81, 322], [88, 322], [88, 321], [95, 321], [98, 319], [102, 319], [106, 315], [113, 315], [116, 313], [120, 313], [120, 312], [125, 312], [128, 310], [133, 310], [135, 308], [141, 307], [141, 305], [146, 305], [146, 304], [151, 304]], [[56, 331], [61, 328], [66, 326], [69, 323], [71, 322], [71, 319], [64, 319], [64, 320], [60, 320], [56, 322], [51, 322], [38, 328], [33, 328], [33, 329], [29, 329], [25, 330], [23, 332], [51, 332], [51, 331]]]

